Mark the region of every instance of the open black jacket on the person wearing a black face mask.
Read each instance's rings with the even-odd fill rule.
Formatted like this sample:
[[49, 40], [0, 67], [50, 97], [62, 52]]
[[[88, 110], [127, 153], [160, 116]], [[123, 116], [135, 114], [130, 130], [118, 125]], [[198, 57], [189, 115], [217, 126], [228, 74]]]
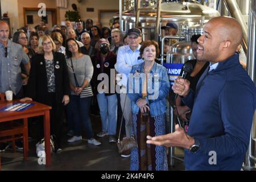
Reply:
[[[115, 94], [115, 63], [117, 63], [117, 55], [114, 52], [110, 51], [108, 55], [105, 57], [105, 61], [104, 61], [104, 73], [106, 73], [109, 78], [109, 85], [107, 85], [108, 88], [106, 88], [109, 90], [109, 93], [105, 93], [106, 96]], [[93, 64], [94, 72], [93, 72], [92, 81], [90, 83], [93, 87], [93, 93], [98, 94], [97, 88], [98, 88], [98, 84], [100, 84], [101, 82], [101, 80], [97, 80], [98, 75], [100, 75], [101, 73], [100, 52], [97, 52], [96, 55], [92, 57], [92, 64]], [[110, 76], [111, 70], [112, 70], [112, 73], [114, 73], [112, 77]], [[113, 78], [113, 80], [110, 80], [111, 78]]]

